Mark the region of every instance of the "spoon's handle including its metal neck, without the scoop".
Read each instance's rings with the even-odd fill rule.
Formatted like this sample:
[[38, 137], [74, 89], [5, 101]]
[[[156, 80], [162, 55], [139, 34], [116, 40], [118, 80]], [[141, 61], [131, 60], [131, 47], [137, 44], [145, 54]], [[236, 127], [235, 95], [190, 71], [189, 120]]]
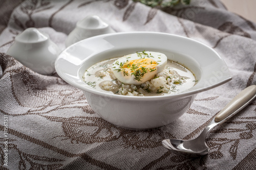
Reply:
[[218, 114], [211, 120], [200, 134], [206, 134], [218, 124], [224, 123], [227, 119], [238, 113], [245, 106], [247, 106], [256, 97], [256, 85], [251, 85], [242, 90], [236, 97], [234, 97]]

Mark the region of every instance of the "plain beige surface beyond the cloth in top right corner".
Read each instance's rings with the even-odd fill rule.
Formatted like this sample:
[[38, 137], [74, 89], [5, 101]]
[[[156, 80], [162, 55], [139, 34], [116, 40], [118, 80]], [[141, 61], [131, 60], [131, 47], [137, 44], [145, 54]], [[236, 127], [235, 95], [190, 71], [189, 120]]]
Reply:
[[237, 13], [256, 23], [256, 0], [221, 0], [228, 11]]

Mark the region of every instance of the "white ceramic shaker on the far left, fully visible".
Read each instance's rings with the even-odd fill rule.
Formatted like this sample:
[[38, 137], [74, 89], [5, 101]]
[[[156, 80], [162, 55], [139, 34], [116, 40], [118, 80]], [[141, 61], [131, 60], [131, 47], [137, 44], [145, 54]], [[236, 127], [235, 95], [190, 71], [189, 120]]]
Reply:
[[36, 28], [28, 28], [15, 37], [15, 42], [6, 54], [39, 74], [51, 75], [55, 71], [54, 62], [60, 52], [47, 34]]

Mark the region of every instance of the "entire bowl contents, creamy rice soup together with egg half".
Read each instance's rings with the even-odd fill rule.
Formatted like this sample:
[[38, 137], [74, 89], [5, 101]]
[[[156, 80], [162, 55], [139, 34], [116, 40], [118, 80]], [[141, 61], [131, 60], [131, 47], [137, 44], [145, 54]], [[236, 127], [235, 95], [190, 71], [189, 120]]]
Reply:
[[96, 90], [130, 96], [180, 93], [197, 82], [188, 68], [162, 53], [145, 51], [96, 63], [82, 78]]

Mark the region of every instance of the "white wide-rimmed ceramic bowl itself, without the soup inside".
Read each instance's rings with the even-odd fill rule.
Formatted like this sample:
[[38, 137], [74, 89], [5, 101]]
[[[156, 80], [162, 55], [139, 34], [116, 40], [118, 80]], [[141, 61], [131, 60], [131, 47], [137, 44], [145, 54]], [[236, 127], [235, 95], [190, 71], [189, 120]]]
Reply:
[[[164, 53], [194, 72], [198, 82], [187, 91], [162, 96], [122, 96], [96, 91], [82, 81], [93, 64], [141, 51]], [[193, 39], [155, 32], [114, 33], [79, 41], [55, 62], [57, 74], [83, 90], [93, 110], [106, 121], [129, 129], [150, 129], [174, 122], [197, 93], [231, 80], [223, 59], [212, 48]]]

